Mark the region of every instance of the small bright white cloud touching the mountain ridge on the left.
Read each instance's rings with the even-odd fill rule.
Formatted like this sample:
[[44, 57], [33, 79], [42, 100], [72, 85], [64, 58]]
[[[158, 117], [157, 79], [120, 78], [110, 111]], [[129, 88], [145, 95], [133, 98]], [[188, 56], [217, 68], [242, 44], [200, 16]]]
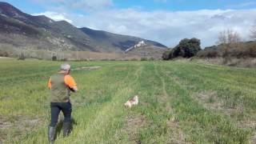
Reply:
[[69, 18], [66, 18], [66, 14], [60, 14], [57, 12], [52, 12], [52, 11], [46, 11], [44, 13], [38, 13], [38, 14], [32, 14], [32, 15], [45, 15], [48, 18], [53, 19], [54, 21], [66, 21], [66, 22], [70, 22], [73, 23], [72, 20], [70, 20]]

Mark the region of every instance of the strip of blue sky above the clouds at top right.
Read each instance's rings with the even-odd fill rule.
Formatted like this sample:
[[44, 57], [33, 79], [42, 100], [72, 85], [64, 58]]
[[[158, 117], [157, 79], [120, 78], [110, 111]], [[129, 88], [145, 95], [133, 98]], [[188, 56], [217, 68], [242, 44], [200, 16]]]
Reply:
[[149, 0], [136, 1], [127, 0], [114, 1], [115, 6], [128, 8], [142, 6], [143, 10], [215, 10], [215, 9], [249, 9], [256, 6], [256, 2], [251, 0]]

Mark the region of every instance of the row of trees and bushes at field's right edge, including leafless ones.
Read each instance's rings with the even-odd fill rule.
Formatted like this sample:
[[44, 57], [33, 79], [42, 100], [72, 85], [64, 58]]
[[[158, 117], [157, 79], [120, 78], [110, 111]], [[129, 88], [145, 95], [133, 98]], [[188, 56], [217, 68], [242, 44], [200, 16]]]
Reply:
[[218, 34], [216, 45], [201, 49], [198, 38], [184, 38], [173, 49], [162, 54], [163, 60], [173, 58], [256, 58], [256, 22], [250, 29], [249, 42], [242, 42], [236, 30], [222, 30]]

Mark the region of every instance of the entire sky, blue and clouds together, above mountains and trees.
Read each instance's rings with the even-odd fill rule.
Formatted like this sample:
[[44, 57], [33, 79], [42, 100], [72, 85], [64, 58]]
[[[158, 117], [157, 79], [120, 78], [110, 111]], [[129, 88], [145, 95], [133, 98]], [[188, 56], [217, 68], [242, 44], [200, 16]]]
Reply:
[[202, 47], [231, 29], [250, 40], [256, 24], [254, 0], [6, 0], [32, 15], [66, 20], [77, 27], [106, 30], [174, 47], [182, 38], [199, 38]]

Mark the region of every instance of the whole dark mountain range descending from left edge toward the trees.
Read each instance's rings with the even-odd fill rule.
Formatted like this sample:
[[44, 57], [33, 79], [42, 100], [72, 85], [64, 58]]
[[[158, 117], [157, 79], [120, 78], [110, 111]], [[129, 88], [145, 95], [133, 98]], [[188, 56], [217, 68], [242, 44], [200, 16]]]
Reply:
[[44, 15], [25, 14], [9, 3], [0, 2], [0, 43], [36, 50], [80, 50], [122, 53], [145, 41], [150, 46], [161, 43], [102, 30], [77, 28], [66, 21], [55, 22]]

